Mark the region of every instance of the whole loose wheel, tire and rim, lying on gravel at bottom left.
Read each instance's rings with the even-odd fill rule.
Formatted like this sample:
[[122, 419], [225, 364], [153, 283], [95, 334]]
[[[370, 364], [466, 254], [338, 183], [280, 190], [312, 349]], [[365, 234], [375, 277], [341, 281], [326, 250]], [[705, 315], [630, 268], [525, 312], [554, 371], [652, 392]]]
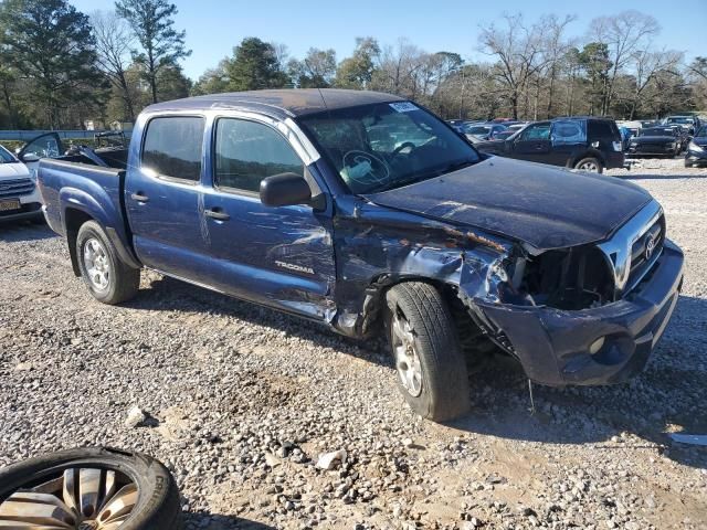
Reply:
[[149, 456], [62, 451], [0, 470], [0, 528], [179, 529], [179, 492], [165, 466]]

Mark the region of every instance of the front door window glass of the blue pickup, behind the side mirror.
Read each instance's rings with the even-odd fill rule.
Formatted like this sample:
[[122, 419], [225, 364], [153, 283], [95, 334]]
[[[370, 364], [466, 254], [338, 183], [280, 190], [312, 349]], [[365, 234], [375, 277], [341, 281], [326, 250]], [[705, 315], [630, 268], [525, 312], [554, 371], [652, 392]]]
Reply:
[[217, 123], [215, 178], [220, 188], [258, 192], [261, 181], [279, 173], [304, 177], [304, 163], [273, 128], [235, 118]]

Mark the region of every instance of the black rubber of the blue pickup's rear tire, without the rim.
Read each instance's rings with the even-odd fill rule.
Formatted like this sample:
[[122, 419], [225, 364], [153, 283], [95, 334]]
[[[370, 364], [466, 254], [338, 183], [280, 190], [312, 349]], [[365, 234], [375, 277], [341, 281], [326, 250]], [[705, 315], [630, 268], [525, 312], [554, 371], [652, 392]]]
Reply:
[[[107, 285], [104, 288], [98, 287], [91, 278], [86, 269], [84, 252], [86, 243], [89, 241], [97, 241], [102, 246], [107, 257], [108, 264], [108, 279]], [[78, 268], [81, 271], [81, 277], [84, 279], [88, 292], [98, 301], [104, 304], [120, 304], [135, 297], [140, 286], [140, 271], [133, 268], [125, 264], [119, 257], [118, 253], [108, 239], [103, 227], [95, 221], [87, 221], [78, 229], [78, 235], [76, 236], [76, 259], [78, 261]]]

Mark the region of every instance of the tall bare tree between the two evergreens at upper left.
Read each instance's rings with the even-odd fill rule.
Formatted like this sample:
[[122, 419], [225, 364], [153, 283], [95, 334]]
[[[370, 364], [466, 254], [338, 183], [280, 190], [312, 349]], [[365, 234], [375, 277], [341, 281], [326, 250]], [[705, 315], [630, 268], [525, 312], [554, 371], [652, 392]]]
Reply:
[[135, 120], [135, 102], [126, 76], [130, 66], [130, 50], [135, 36], [127, 22], [115, 11], [94, 11], [91, 14], [96, 39], [98, 67], [120, 92], [125, 105], [125, 118]]

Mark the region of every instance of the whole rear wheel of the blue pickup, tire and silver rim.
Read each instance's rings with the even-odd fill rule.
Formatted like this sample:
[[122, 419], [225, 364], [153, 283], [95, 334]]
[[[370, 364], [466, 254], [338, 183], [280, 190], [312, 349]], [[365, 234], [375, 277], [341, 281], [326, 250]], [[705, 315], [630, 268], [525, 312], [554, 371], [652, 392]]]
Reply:
[[76, 257], [81, 276], [97, 300], [120, 304], [137, 294], [139, 269], [120, 261], [107, 234], [95, 221], [84, 223], [78, 230]]

